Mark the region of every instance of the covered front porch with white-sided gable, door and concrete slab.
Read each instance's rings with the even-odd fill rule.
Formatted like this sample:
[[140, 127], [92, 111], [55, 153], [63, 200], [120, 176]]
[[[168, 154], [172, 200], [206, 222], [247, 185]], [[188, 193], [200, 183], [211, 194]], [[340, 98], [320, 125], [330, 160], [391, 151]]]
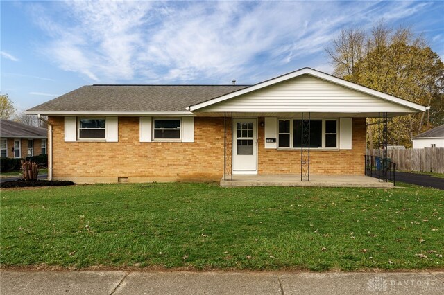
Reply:
[[[301, 69], [187, 110], [223, 118], [221, 186], [393, 188], [387, 122], [426, 107]], [[364, 161], [366, 118], [378, 119], [382, 152]]]

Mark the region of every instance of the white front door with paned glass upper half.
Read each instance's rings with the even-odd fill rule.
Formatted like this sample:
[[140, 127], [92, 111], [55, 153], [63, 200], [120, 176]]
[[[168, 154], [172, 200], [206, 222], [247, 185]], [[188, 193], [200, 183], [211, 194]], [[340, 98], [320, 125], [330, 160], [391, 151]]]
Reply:
[[234, 119], [233, 172], [257, 172], [256, 119]]

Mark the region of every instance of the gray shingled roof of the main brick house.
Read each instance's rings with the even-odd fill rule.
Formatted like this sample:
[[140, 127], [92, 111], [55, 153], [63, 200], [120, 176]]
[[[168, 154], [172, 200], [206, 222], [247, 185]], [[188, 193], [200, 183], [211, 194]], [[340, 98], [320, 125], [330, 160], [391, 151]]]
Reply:
[[186, 111], [247, 85], [91, 85], [28, 111]]

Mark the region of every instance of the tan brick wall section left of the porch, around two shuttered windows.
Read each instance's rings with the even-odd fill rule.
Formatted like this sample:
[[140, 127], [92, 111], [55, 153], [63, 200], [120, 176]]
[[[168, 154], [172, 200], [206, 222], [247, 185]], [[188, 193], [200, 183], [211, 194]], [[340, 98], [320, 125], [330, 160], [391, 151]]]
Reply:
[[56, 179], [220, 180], [223, 175], [223, 118], [195, 118], [194, 143], [141, 143], [139, 117], [119, 117], [117, 143], [65, 142], [64, 118], [50, 117], [49, 121]]

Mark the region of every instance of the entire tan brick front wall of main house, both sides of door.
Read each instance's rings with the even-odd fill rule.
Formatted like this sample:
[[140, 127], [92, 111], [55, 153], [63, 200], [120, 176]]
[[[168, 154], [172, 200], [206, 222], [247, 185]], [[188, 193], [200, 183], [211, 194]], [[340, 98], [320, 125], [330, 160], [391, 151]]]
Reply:
[[[259, 118], [258, 123], [263, 118]], [[219, 181], [223, 176], [223, 118], [194, 118], [194, 143], [140, 143], [139, 117], [119, 117], [119, 142], [66, 142], [64, 118], [53, 124], [53, 177], [77, 182]], [[311, 150], [311, 174], [362, 175], [366, 126], [353, 119], [352, 150]], [[227, 119], [226, 171], [231, 171], [231, 120]], [[300, 174], [300, 151], [264, 148], [258, 124], [259, 174]]]

